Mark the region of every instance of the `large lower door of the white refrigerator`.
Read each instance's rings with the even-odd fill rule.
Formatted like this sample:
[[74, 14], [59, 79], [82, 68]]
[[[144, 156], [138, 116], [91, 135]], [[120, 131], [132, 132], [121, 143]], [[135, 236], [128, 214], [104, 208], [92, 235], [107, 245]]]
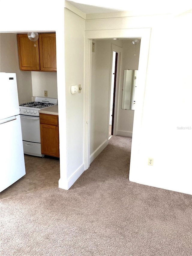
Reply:
[[0, 122], [0, 192], [26, 174], [20, 116]]

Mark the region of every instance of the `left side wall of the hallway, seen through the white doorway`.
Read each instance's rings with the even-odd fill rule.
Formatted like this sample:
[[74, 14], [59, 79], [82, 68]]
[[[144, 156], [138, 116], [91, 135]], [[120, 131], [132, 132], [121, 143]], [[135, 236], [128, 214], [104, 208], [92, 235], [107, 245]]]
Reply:
[[96, 40], [91, 54], [90, 163], [107, 146], [111, 90], [112, 44], [121, 40]]

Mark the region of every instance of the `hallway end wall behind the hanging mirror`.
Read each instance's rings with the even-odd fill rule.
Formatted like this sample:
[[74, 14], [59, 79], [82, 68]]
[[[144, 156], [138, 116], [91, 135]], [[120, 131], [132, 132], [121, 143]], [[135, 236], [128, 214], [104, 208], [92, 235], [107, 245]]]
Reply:
[[[119, 79], [119, 93], [118, 93], [118, 113], [117, 113], [117, 126], [116, 134], [119, 136], [132, 137], [133, 133], [133, 121], [134, 121], [134, 110], [122, 109], [122, 89], [123, 89], [123, 78], [124, 70], [138, 70], [139, 66], [139, 54], [140, 54], [140, 43], [135, 45], [132, 44], [133, 39], [122, 40], [122, 66], [121, 74]], [[136, 56], [134, 55], [136, 53]]]

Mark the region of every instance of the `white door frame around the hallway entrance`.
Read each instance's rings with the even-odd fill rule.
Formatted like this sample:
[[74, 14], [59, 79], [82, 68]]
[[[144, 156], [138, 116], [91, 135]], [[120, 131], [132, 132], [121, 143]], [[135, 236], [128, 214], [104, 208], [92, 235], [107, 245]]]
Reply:
[[[133, 137], [131, 146], [131, 162], [137, 164], [137, 154], [141, 137], [141, 125], [143, 115], [143, 103], [145, 96], [145, 85], [147, 76], [147, 64], [149, 54], [151, 28], [145, 29], [112, 29], [85, 31], [85, 90], [84, 90], [84, 163], [85, 170], [90, 165], [90, 120], [91, 120], [91, 46], [92, 39], [113, 39], [113, 38], [140, 38], [140, 59], [137, 76], [138, 104], [134, 112]], [[141, 86], [139, 86], [141, 85]], [[131, 165], [130, 165], [131, 166]], [[130, 169], [131, 171], [131, 169]]]

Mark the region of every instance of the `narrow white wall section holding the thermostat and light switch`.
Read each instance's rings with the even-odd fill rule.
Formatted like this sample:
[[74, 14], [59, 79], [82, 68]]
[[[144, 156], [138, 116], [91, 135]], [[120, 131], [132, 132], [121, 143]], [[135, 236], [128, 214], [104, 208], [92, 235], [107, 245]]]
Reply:
[[[84, 164], [84, 53], [85, 20], [64, 11], [65, 85], [68, 188], [85, 170]], [[71, 85], [81, 84], [81, 93], [71, 94]]]

